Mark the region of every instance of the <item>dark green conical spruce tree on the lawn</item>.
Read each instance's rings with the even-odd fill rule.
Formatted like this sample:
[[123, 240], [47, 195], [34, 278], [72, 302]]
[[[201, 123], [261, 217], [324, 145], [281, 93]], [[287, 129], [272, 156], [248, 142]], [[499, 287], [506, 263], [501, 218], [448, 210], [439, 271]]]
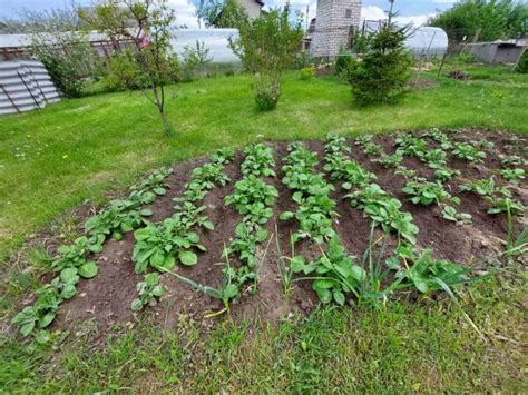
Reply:
[[365, 42], [362, 59], [350, 65], [349, 82], [360, 106], [393, 103], [407, 92], [411, 78], [411, 59], [404, 47], [409, 28], [398, 28], [392, 17], [391, 9], [387, 24]]

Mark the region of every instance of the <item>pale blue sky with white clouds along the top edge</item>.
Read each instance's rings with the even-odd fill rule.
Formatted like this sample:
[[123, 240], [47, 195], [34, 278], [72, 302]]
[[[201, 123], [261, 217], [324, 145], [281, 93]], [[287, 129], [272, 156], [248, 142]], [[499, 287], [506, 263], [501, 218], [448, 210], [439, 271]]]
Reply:
[[[80, 4], [90, 4], [91, 0], [77, 0]], [[192, 27], [196, 23], [194, 18], [194, 3], [198, 0], [169, 0], [179, 17], [179, 23]], [[281, 6], [285, 0], [265, 0], [266, 6]], [[401, 19], [405, 22], [413, 21], [420, 24], [427, 20], [428, 16], [437, 10], [444, 10], [451, 7], [456, 0], [395, 0], [395, 9], [401, 12]], [[49, 8], [62, 8], [70, 3], [70, 0], [0, 0], [0, 17], [16, 18], [23, 9], [40, 11]], [[305, 10], [310, 6], [310, 17], [315, 13], [316, 0], [291, 0], [293, 7]], [[363, 18], [379, 19], [383, 16], [383, 10], [388, 8], [387, 0], [363, 0]]]

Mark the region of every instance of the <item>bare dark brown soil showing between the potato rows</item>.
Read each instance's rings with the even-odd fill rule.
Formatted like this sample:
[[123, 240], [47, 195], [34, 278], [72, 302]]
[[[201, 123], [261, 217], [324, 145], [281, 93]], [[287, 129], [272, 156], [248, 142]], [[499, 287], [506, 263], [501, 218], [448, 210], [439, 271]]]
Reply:
[[[354, 146], [353, 140], [349, 140], [349, 144], [353, 147], [352, 157], [374, 171], [378, 175], [378, 184], [400, 199], [405, 210], [412, 213], [414, 223], [420, 228], [418, 237], [420, 247], [432, 247], [434, 256], [461, 264], [475, 260], [497, 260], [500, 251], [503, 250], [503, 240], [507, 234], [506, 215], [492, 216], [487, 214], [486, 201], [473, 194], [460, 192], [459, 185], [462, 180], [487, 178], [491, 175], [496, 175], [497, 180], [500, 180], [498, 175], [500, 162], [497, 155], [507, 151], [505, 147], [508, 146], [511, 135], [497, 131], [467, 130], [463, 134], [452, 134], [450, 136], [457, 141], [486, 138], [496, 144], [495, 148], [486, 149], [488, 158], [483, 165], [467, 164], [449, 155], [448, 166], [460, 169], [462, 176], [460, 179], [450, 182], [448, 188], [452, 195], [461, 198], [462, 203], [458, 210], [471, 214], [472, 225], [460, 226], [443, 219], [440, 208], [437, 206], [422, 207], [409, 203], [407, 196], [401, 191], [405, 184], [402, 177], [395, 176], [392, 169], [384, 169], [380, 165], [373, 164], [371, 160], [374, 157], [363, 155]], [[374, 141], [383, 146], [385, 154], [394, 151], [391, 136], [379, 136], [375, 137]], [[436, 147], [432, 141], [428, 142], [430, 147]], [[522, 138], [516, 142], [517, 146], [519, 144], [526, 146], [527, 139]], [[291, 199], [291, 191], [281, 182], [283, 177], [281, 166], [287, 154], [287, 145], [271, 144], [271, 146], [275, 150], [277, 177], [270, 178], [267, 181], [277, 188], [280, 199], [274, 209], [274, 217], [266, 226], [270, 240], [264, 243], [258, 251], [263, 261], [260, 268], [258, 292], [255, 295], [244, 295], [239, 302], [232, 305], [232, 317], [234, 319], [258, 317], [263, 320], [278, 320], [295, 310], [307, 314], [317, 303], [317, 298], [307, 280], [294, 283], [295, 286], [290, 299], [283, 296], [284, 288], [280, 279], [278, 258], [292, 254], [290, 236], [296, 230], [296, 221], [281, 221], [278, 215], [284, 210], [295, 210], [295, 204]], [[317, 170], [322, 171], [323, 142], [309, 141], [306, 147], [319, 152], [320, 166]], [[169, 191], [166, 196], [158, 197], [151, 205], [154, 220], [163, 220], [173, 214], [172, 198], [183, 191], [190, 177], [192, 169], [205, 160], [201, 158], [173, 167], [174, 174], [168, 178]], [[207, 207], [206, 213], [215, 224], [214, 231], [199, 231], [207, 251], [199, 255], [196, 266], [178, 266], [175, 269], [199, 284], [217, 287], [222, 283], [222, 265], [218, 265], [222, 261], [222, 251], [224, 246], [231, 243], [235, 227], [241, 220], [234, 208], [225, 206], [223, 201], [227, 195], [233, 192], [235, 181], [241, 178], [241, 161], [242, 152], [238, 152], [236, 160], [226, 167], [226, 172], [232, 182], [223, 188], [212, 190], [204, 201]], [[429, 179], [432, 177], [432, 171], [415, 158], [405, 158], [404, 165], [418, 170], [422, 177]], [[370, 220], [360, 210], [353, 209], [343, 199], [344, 194], [340, 189], [340, 185], [335, 184], [335, 186], [336, 190], [332, 196], [336, 201], [336, 211], [339, 213], [339, 217], [334, 223], [335, 230], [348, 251], [361, 257], [369, 243]], [[527, 181], [524, 180], [519, 187], [514, 189], [515, 197], [525, 205], [528, 204], [527, 188]], [[90, 210], [85, 211], [85, 215], [89, 215]], [[84, 219], [80, 223], [84, 223]], [[520, 231], [522, 226], [526, 226], [526, 218], [517, 217], [515, 220], [516, 231]], [[379, 230], [375, 235], [380, 235]], [[109, 333], [116, 324], [134, 325], [135, 316], [130, 310], [130, 303], [137, 296], [136, 284], [141, 276], [134, 273], [133, 249], [134, 235], [131, 233], [127, 234], [121, 241], [109, 240], [105, 245], [105, 250], [92, 257], [99, 264], [98, 276], [91, 280], [82, 280], [79, 284], [78, 295], [60, 307], [58, 319], [53, 323], [53, 326], [56, 328], [70, 328], [74, 333], [84, 333], [82, 330], [85, 330], [88, 323], [90, 330], [102, 335]], [[302, 241], [295, 245], [295, 254], [313, 258], [320, 254], [320, 250], [309, 241]], [[234, 257], [232, 257], [232, 265], [238, 265]], [[188, 285], [170, 275], [163, 276], [163, 284], [168, 293], [162, 298], [158, 306], [154, 307], [155, 319], [159, 325], [169, 329], [175, 328], [183, 314], [190, 315], [202, 322], [204, 326], [214, 323], [215, 318], [206, 318], [205, 316], [222, 308], [218, 300], [193, 290]]]

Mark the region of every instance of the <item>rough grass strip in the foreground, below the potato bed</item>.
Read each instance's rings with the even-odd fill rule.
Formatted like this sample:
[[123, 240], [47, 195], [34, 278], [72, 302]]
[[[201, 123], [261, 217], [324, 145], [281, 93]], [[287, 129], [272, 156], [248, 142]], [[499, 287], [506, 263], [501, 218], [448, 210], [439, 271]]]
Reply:
[[140, 324], [104, 348], [4, 340], [0, 383], [21, 393], [526, 393], [522, 298], [519, 284], [495, 280], [465, 295], [483, 339], [440, 298], [320, 308], [280, 325], [226, 319], [207, 337], [182, 316], [177, 333]]

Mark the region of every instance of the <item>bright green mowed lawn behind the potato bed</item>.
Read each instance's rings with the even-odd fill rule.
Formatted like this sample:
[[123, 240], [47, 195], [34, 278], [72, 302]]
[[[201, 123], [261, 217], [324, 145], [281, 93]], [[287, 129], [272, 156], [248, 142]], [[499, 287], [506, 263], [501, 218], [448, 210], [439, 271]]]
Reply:
[[[486, 70], [509, 76], [505, 68]], [[434, 75], [432, 70], [424, 77]], [[86, 199], [101, 201], [107, 191], [129, 186], [150, 169], [222, 146], [433, 126], [526, 134], [528, 76], [514, 76], [512, 83], [440, 77], [436, 89], [413, 90], [398, 106], [359, 109], [343, 81], [301, 81], [291, 73], [277, 110], [268, 113], [255, 110], [250, 76], [204, 79], [169, 87], [172, 138], [163, 135], [158, 115], [141, 92], [63, 100], [2, 117], [0, 260], [28, 235]]]

